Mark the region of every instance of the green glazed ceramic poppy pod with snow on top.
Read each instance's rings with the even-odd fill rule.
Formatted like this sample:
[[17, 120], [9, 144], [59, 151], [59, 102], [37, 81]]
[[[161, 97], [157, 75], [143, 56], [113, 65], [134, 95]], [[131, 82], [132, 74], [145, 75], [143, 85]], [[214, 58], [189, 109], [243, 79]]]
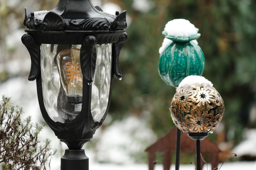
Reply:
[[163, 35], [158, 63], [162, 80], [177, 87], [189, 75], [202, 75], [205, 57], [196, 41], [200, 37], [198, 29], [188, 20], [175, 19], [166, 24]]

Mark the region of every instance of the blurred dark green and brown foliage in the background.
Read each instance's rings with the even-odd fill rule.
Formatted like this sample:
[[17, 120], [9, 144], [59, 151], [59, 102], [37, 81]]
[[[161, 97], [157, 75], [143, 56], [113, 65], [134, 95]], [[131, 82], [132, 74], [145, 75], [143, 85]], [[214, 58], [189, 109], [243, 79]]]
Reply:
[[[139, 1], [139, 0], [134, 0]], [[175, 88], [165, 84], [158, 75], [158, 49], [164, 36], [165, 24], [184, 18], [193, 23], [201, 37], [197, 40], [205, 54], [203, 76], [210, 80], [225, 103], [222, 123], [226, 140], [237, 143], [243, 128], [256, 128], [251, 108], [256, 105], [256, 1], [254, 0], [148, 0], [153, 6], [148, 12], [135, 10], [133, 0], [102, 0], [113, 2], [131, 19], [126, 29], [128, 41], [120, 54], [122, 81], [114, 79], [109, 114], [122, 119], [135, 114], [148, 120], [158, 135], [163, 136], [174, 126], [169, 105]], [[2, 0], [0, 7], [0, 49], [5, 46], [5, 36], [23, 26], [24, 7], [33, 10], [50, 10], [58, 0]], [[93, 2], [93, 1], [92, 1]], [[15, 20], [18, 25], [14, 25]], [[3, 50], [1, 50], [3, 51]], [[1, 62], [8, 59], [2, 53]], [[1, 72], [2, 73], [2, 72]]]

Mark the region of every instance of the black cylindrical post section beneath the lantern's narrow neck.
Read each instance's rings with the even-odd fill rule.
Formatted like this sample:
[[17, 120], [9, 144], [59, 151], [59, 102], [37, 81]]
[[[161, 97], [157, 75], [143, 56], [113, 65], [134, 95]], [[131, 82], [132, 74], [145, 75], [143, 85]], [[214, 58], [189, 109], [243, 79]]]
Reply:
[[84, 149], [66, 149], [61, 158], [60, 170], [89, 170], [89, 158]]

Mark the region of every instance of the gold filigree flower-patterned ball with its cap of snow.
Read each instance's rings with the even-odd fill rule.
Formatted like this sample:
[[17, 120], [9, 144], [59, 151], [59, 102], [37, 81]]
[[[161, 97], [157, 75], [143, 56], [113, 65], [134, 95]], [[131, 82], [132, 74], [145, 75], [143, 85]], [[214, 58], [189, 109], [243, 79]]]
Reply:
[[179, 84], [170, 105], [175, 125], [186, 133], [212, 133], [219, 125], [224, 103], [212, 83], [188, 76]]

